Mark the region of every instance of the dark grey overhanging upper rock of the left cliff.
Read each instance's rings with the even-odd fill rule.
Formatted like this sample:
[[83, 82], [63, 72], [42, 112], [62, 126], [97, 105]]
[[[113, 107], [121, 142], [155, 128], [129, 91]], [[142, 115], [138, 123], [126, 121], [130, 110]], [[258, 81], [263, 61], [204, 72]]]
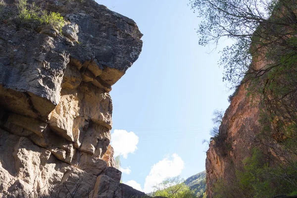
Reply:
[[[41, 30], [37, 34], [34, 29], [17, 28], [13, 21], [1, 21], [0, 100], [6, 109], [33, 118], [47, 116], [59, 103], [68, 63], [78, 69], [87, 65], [81, 71], [86, 82], [99, 77], [110, 86], [137, 60], [142, 34], [133, 20], [93, 0], [33, 1], [61, 13], [69, 24], [62, 36], [49, 25], [37, 28]], [[5, 2], [3, 18], [15, 10], [14, 0]]]

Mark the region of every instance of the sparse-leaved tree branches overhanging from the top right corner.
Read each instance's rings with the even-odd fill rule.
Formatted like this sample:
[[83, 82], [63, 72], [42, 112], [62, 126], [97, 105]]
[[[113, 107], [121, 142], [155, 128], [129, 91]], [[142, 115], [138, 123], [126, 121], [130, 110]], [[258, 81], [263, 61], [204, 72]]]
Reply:
[[[296, 0], [190, 0], [190, 4], [201, 17], [200, 45], [217, 45], [224, 37], [234, 40], [223, 49], [220, 61], [225, 68], [223, 79], [234, 86], [244, 77], [257, 78], [277, 67], [288, 51], [297, 52]], [[252, 67], [252, 57], [270, 65]], [[247, 74], [253, 75], [247, 78]]]

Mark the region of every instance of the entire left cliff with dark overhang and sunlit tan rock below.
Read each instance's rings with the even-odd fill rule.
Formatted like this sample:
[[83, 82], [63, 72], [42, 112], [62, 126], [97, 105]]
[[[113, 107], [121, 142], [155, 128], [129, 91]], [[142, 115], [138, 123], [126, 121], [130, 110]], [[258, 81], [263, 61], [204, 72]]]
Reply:
[[136, 23], [94, 0], [28, 0], [58, 30], [0, 3], [0, 197], [125, 197], [109, 92], [141, 52]]

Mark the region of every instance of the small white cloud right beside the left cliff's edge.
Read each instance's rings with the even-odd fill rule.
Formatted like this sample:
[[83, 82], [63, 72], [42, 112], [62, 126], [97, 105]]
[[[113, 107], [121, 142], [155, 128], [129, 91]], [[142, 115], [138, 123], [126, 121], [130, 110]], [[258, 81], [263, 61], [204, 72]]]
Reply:
[[139, 138], [133, 132], [115, 129], [111, 134], [111, 146], [114, 149], [114, 156], [123, 155], [126, 159], [128, 153], [137, 149]]

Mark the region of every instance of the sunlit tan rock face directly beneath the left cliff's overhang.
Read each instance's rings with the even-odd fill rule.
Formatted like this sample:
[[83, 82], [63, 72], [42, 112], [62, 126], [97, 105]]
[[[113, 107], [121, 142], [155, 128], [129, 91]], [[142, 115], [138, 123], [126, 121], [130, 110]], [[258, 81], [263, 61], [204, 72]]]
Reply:
[[49, 114], [48, 123], [53, 131], [79, 148], [90, 121], [107, 131], [111, 129], [111, 112], [109, 94], [82, 83], [77, 90], [62, 89], [61, 101]]

